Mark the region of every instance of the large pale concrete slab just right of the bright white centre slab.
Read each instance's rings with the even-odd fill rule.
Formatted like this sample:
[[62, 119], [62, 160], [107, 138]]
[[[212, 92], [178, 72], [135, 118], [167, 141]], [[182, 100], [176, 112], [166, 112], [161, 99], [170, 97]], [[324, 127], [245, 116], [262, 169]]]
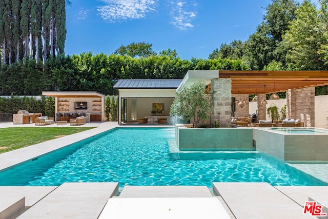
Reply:
[[236, 218], [313, 218], [268, 183], [213, 183]]

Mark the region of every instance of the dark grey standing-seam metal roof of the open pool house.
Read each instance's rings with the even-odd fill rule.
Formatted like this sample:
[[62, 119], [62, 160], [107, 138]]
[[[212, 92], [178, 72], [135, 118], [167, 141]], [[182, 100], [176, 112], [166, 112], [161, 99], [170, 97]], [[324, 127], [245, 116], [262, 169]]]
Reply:
[[114, 89], [176, 89], [182, 79], [119, 79]]

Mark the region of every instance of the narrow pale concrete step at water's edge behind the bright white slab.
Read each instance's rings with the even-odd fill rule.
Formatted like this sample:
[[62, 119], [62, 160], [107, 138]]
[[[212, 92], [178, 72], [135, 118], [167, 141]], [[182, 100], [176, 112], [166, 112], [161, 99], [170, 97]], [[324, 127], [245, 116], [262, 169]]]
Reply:
[[206, 186], [125, 186], [117, 197], [213, 197]]

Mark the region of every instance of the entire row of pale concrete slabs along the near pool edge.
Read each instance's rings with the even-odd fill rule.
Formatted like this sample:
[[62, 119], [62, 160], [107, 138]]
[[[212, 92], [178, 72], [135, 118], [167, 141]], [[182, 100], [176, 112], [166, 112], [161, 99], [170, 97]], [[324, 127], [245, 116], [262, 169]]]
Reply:
[[[126, 186], [121, 196], [117, 186], [8, 186], [0, 187], [0, 197], [20, 213], [25, 203], [19, 203], [18, 208], [17, 201], [25, 198], [26, 211], [18, 218], [314, 218], [309, 212], [304, 214], [305, 202], [328, 205], [325, 186], [213, 183], [212, 194], [198, 186]], [[0, 209], [0, 213], [5, 210]], [[327, 213], [327, 208], [322, 213]]]

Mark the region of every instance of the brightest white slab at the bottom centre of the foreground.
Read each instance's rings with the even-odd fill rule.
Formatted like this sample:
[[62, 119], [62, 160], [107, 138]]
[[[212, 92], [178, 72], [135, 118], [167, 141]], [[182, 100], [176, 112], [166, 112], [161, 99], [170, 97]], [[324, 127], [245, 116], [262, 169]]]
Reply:
[[[177, 186], [178, 187], [178, 186]], [[231, 217], [216, 197], [110, 198], [99, 219], [221, 218]]]

